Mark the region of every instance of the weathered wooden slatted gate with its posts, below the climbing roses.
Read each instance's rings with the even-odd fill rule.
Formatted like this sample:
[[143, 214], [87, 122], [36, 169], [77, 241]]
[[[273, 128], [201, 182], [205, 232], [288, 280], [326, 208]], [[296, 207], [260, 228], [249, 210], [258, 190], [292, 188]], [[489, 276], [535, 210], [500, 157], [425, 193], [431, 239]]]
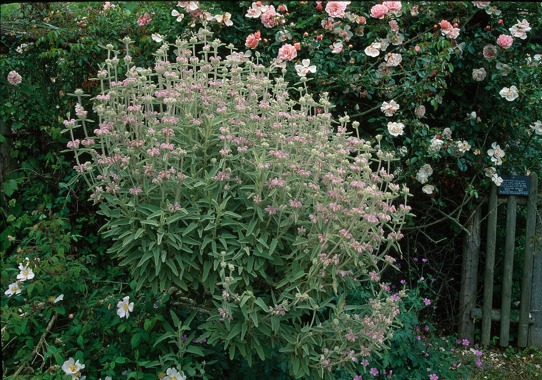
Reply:
[[[469, 233], [463, 249], [463, 264], [461, 271], [460, 291], [460, 339], [468, 339], [472, 346], [474, 342], [474, 320], [481, 320], [481, 339], [483, 345], [491, 339], [491, 323], [500, 322], [499, 344], [509, 345], [509, 330], [511, 323], [517, 323], [519, 347], [537, 346], [542, 349], [542, 224], [537, 218], [537, 205], [540, 201], [537, 195], [538, 175], [530, 175], [530, 194], [527, 197], [508, 195], [497, 196], [496, 187], [492, 185], [487, 204], [487, 217], [482, 218], [482, 204], [470, 215], [466, 224]], [[497, 231], [497, 211], [500, 205], [507, 206], [506, 238], [504, 246], [504, 271], [502, 273], [501, 309], [493, 309], [493, 285], [495, 268], [495, 247]], [[521, 298], [519, 310], [511, 310], [512, 271], [514, 265], [514, 248], [516, 244], [515, 224], [517, 206], [527, 206], [525, 228], [525, 255], [521, 281]], [[537, 220], [539, 220], [537, 228]], [[487, 226], [485, 253], [483, 263], [483, 300], [481, 309], [476, 308], [478, 294], [478, 266], [481, 248], [481, 228]]]

